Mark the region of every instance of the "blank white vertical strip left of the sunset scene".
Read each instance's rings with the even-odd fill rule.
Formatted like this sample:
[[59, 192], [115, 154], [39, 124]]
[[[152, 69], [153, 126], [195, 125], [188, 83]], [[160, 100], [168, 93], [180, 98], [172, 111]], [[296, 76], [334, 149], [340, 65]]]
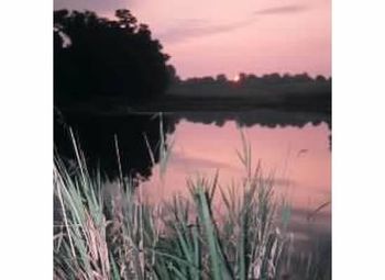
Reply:
[[53, 279], [53, 3], [0, 11], [1, 279]]

